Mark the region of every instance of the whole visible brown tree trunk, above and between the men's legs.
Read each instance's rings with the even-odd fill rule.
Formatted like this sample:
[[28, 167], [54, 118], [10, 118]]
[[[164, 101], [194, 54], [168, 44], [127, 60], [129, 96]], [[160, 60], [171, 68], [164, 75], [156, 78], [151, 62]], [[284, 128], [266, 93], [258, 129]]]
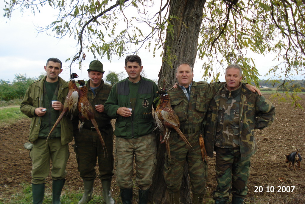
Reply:
[[[170, 0], [169, 16], [174, 17], [169, 17], [171, 24], [169, 26], [173, 26], [173, 31], [170, 31], [169, 28], [167, 30], [163, 63], [159, 73], [159, 87], [163, 86], [163, 79], [166, 81], [167, 89], [177, 82], [176, 67], [181, 63], [194, 66], [205, 2], [205, 0]], [[150, 203], [167, 203], [166, 184], [163, 178], [164, 153], [165, 146], [158, 144], [157, 166], [153, 176]], [[191, 203], [187, 165], [185, 165], [180, 189], [180, 199], [181, 203]]]

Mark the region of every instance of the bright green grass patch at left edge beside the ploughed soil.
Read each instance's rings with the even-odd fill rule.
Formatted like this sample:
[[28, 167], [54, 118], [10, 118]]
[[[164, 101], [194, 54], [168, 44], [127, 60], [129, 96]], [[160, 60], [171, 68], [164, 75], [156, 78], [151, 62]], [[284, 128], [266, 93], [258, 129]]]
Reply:
[[23, 113], [21, 113], [19, 107], [5, 107], [0, 109], [1, 126], [13, 124], [16, 121], [21, 120], [23, 118], [28, 118], [28, 117]]

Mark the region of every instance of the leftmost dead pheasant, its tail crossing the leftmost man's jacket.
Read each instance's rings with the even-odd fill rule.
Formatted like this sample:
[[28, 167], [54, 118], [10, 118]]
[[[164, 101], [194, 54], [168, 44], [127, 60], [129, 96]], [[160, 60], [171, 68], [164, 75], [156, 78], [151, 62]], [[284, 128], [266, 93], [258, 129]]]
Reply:
[[[76, 73], [72, 73], [70, 75], [70, 81], [69, 81], [69, 92], [68, 95], [66, 96], [66, 100], [65, 103], [63, 105], [63, 111], [61, 112], [61, 114], [59, 115], [57, 121], [55, 122], [55, 124], [53, 125], [53, 128], [51, 129], [47, 140], [45, 141], [45, 143], [48, 142], [48, 139], [51, 135], [51, 133], [53, 132], [53, 130], [56, 128], [57, 124], [60, 122], [60, 120], [63, 118], [63, 115], [67, 112], [73, 113], [74, 110], [77, 107], [77, 101], [78, 101], [78, 88], [76, 86], [75, 83], [75, 78], [77, 78], [77, 74]], [[71, 119], [72, 119], [72, 114], [71, 114]]]

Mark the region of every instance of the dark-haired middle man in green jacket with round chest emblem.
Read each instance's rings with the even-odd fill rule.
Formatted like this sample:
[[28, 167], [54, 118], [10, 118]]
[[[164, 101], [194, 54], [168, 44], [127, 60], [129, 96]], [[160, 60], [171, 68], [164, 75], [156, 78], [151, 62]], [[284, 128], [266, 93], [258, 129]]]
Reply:
[[[140, 75], [141, 58], [129, 55], [125, 59], [128, 78], [117, 82], [105, 103], [105, 113], [116, 118], [116, 179], [121, 199], [132, 200], [133, 161], [136, 163], [135, 185], [139, 188], [139, 203], [147, 203], [152, 175], [156, 168], [156, 135], [152, 106], [156, 108], [157, 85]], [[129, 110], [131, 109], [131, 111]]]

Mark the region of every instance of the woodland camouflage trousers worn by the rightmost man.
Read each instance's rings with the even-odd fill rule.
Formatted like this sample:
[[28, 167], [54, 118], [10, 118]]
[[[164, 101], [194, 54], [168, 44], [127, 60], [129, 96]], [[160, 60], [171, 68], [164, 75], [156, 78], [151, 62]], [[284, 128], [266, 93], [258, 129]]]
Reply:
[[217, 189], [213, 197], [227, 201], [230, 193], [234, 197], [245, 197], [248, 192], [250, 158], [242, 161], [239, 148], [215, 147], [215, 151]]

